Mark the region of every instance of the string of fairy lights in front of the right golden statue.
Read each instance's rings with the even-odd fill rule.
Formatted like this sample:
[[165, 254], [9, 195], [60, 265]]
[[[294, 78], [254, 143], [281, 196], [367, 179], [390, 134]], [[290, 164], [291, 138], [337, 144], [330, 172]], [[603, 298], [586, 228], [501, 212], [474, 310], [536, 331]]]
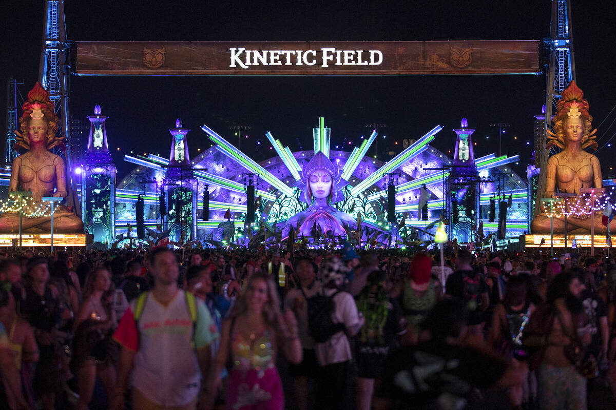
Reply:
[[573, 216], [574, 218], [583, 218], [586, 216], [590, 216], [593, 213], [601, 212], [606, 208], [607, 203], [609, 202], [612, 208], [616, 208], [616, 203], [614, 203], [614, 199], [616, 199], [616, 191], [614, 191], [616, 187], [612, 186], [610, 189], [606, 188], [606, 191], [601, 192], [601, 194], [597, 193], [594, 196], [591, 194], [583, 194], [578, 195], [577, 197], [571, 197], [567, 199], [567, 211], [565, 211], [565, 201], [564, 199], [554, 200], [553, 206], [550, 207], [549, 201], [541, 201], [545, 206], [545, 213], [548, 218], [554, 216], [554, 218], [562, 218], [564, 215], [567, 215], [567, 218]]

